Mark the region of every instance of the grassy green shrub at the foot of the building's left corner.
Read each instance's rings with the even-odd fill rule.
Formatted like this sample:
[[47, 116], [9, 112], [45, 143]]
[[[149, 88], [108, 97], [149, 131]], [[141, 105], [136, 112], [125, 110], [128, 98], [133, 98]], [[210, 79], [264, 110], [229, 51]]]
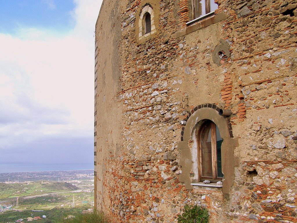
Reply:
[[62, 219], [61, 223], [108, 223], [104, 214], [94, 211], [93, 213], [78, 214], [75, 217]]

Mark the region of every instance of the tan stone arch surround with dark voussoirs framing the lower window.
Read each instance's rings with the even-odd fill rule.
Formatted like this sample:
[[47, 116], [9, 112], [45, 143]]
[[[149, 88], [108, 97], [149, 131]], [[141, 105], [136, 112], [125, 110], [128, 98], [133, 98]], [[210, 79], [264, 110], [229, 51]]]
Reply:
[[[182, 174], [179, 177], [181, 182], [186, 183], [187, 189], [192, 189], [191, 183], [197, 180], [197, 176], [190, 176], [190, 173], [195, 172], [198, 168], [195, 161], [195, 148], [189, 145], [189, 142], [195, 141], [195, 131], [203, 120], [213, 121], [219, 128], [223, 139], [222, 153], [222, 172], [225, 179], [223, 180], [222, 192], [227, 195], [233, 186], [235, 178], [234, 167], [238, 166], [238, 157], [234, 156], [234, 149], [238, 146], [238, 139], [233, 137], [232, 126], [228, 117], [219, 115], [219, 107], [215, 104], [198, 105], [187, 116], [187, 124], [182, 128], [181, 141], [178, 143], [180, 150], [180, 162]], [[194, 142], [195, 143], [195, 142]], [[191, 148], [190, 148], [191, 147]], [[192, 164], [192, 165], [191, 165]], [[193, 174], [192, 174], [193, 175]], [[194, 174], [195, 175], [195, 174]], [[227, 196], [228, 197], [228, 196]]]

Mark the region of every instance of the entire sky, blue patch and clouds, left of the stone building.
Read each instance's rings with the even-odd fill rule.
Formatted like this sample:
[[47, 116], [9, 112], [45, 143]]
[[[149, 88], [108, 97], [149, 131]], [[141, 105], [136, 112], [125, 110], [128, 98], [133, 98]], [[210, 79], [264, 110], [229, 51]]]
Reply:
[[0, 172], [93, 169], [101, 3], [0, 1]]

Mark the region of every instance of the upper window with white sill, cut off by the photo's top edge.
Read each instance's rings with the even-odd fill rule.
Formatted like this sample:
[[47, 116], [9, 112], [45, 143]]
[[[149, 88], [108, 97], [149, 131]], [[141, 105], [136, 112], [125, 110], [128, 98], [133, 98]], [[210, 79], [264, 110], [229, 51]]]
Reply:
[[214, 13], [218, 9], [218, 4], [214, 0], [191, 0], [192, 20], [203, 18]]

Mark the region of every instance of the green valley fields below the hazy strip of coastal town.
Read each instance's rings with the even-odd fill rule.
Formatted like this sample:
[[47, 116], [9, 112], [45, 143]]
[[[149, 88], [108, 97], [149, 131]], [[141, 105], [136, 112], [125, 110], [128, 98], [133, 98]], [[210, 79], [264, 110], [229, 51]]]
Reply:
[[0, 183], [0, 223], [15, 222], [17, 219], [27, 222], [30, 218], [43, 215], [46, 219], [34, 221], [56, 223], [63, 217], [93, 208], [93, 177], [90, 171], [89, 174], [73, 173], [60, 182], [29, 181], [26, 178], [26, 181]]

